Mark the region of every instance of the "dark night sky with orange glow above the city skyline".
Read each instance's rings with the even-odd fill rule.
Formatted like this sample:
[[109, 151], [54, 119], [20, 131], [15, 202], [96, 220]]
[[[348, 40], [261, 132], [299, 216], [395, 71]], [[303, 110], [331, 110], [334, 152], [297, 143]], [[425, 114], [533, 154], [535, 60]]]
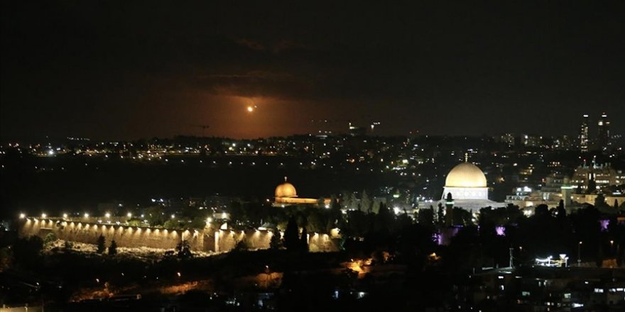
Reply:
[[1, 138], [625, 132], [625, 1], [129, 2], [1, 2]]

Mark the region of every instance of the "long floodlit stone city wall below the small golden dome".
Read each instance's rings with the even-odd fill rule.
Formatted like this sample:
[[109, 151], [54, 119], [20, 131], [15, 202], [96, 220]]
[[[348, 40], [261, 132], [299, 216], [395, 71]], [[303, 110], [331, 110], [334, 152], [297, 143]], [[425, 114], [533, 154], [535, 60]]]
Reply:
[[[228, 252], [243, 241], [247, 249], [267, 249], [273, 232], [269, 230], [170, 230], [126, 225], [64, 221], [53, 218], [26, 218], [19, 233], [22, 237], [37, 235], [45, 238], [54, 233], [60, 240], [96, 244], [99, 235], [106, 238], [107, 245], [115, 240], [118, 247], [151, 247], [174, 249], [182, 240], [187, 240], [192, 250], [205, 252]], [[280, 233], [283, 235], [283, 233]], [[337, 251], [336, 239], [330, 235], [312, 233], [308, 235], [311, 252]]]

